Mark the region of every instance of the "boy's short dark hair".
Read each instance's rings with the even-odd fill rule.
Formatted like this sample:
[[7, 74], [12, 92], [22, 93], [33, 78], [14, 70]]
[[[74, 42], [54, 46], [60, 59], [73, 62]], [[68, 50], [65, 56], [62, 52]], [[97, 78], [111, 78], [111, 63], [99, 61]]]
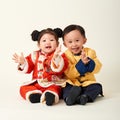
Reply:
[[78, 30], [78, 31], [81, 33], [81, 35], [86, 38], [84, 28], [83, 28], [82, 26], [80, 26], [80, 25], [72, 24], [72, 25], [68, 25], [68, 26], [63, 30], [63, 36], [62, 36], [62, 37], [63, 37], [63, 40], [64, 40], [64, 36], [65, 36], [66, 34], [68, 34], [69, 32], [73, 31], [73, 30]]

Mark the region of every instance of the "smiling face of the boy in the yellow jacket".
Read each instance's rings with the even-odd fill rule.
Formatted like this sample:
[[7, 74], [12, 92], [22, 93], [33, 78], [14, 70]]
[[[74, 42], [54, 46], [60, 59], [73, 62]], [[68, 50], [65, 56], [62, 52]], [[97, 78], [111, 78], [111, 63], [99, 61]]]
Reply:
[[73, 53], [79, 54], [82, 51], [86, 38], [78, 30], [73, 30], [64, 36], [64, 45]]

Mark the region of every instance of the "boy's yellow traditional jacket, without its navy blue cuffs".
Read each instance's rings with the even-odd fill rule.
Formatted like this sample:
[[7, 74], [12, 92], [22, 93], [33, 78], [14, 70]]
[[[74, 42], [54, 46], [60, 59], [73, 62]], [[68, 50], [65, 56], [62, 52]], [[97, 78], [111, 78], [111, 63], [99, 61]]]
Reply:
[[83, 48], [83, 50], [85, 51], [86, 55], [95, 63], [94, 69], [91, 72], [86, 72], [84, 75], [81, 75], [81, 73], [75, 67], [76, 64], [80, 61], [81, 56], [73, 55], [69, 50], [66, 50], [65, 54], [68, 58], [69, 66], [65, 71], [65, 78], [67, 79], [67, 82], [71, 85], [85, 87], [90, 84], [96, 83], [96, 78], [94, 74], [100, 71], [102, 64], [98, 60], [95, 50], [91, 48]]

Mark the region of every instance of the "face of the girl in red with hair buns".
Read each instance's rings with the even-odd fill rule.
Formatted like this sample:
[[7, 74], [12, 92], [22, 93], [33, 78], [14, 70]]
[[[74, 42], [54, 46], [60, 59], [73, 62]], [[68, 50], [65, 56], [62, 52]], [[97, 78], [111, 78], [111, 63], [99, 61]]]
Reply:
[[55, 39], [54, 35], [51, 35], [49, 33], [44, 34], [41, 37], [40, 42], [38, 44], [38, 47], [45, 54], [52, 53], [53, 51], [55, 51], [57, 46], [58, 46], [58, 42]]

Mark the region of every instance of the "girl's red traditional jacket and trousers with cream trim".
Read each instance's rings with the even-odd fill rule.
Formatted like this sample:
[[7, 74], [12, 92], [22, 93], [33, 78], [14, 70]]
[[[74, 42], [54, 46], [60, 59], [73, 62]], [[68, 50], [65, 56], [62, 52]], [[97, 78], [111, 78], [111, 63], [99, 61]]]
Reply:
[[53, 53], [44, 54], [41, 51], [33, 52], [25, 59], [24, 65], [19, 65], [18, 70], [24, 73], [32, 72], [32, 81], [20, 87], [21, 96], [29, 100], [29, 95], [33, 93], [41, 94], [41, 102], [45, 102], [45, 93], [50, 92], [55, 95], [55, 103], [59, 101], [61, 86], [64, 86], [65, 79], [62, 79], [63, 72], [68, 66], [65, 54], [53, 59]]

